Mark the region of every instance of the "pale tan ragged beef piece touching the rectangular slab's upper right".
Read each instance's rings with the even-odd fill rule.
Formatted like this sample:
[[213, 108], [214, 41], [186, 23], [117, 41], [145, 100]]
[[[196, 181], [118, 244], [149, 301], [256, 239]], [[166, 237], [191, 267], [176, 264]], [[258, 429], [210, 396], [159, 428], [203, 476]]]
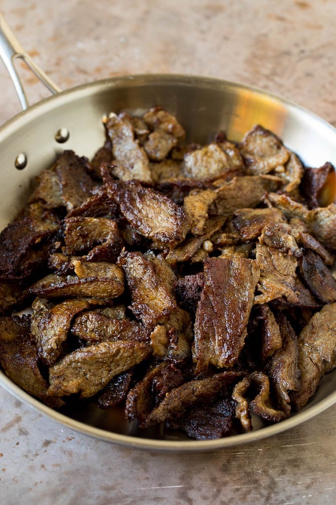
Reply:
[[291, 304], [298, 304], [299, 292], [295, 288], [298, 261], [274, 247], [256, 244], [256, 262], [260, 268], [258, 290], [254, 303], [264, 304], [284, 296]]

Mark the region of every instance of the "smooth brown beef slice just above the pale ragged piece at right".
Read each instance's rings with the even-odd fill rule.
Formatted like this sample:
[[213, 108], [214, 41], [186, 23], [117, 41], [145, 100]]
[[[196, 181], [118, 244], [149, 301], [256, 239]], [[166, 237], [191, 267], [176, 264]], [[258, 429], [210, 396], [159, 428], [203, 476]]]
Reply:
[[261, 235], [267, 223], [287, 223], [285, 216], [278, 209], [239, 209], [233, 213], [233, 224], [241, 238], [254, 240]]

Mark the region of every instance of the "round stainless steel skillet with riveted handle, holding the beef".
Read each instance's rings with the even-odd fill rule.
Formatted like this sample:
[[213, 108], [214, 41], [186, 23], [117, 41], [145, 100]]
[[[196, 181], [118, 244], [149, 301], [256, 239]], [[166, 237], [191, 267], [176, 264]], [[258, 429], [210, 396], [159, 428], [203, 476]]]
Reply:
[[[102, 117], [110, 111], [147, 109], [161, 104], [176, 114], [189, 139], [209, 141], [218, 130], [239, 140], [255, 123], [275, 131], [308, 165], [336, 165], [336, 129], [283, 98], [237, 83], [185, 75], [137, 75], [86, 84], [59, 92], [14, 39], [0, 16], [0, 53], [25, 110], [0, 128], [0, 227], [23, 206], [32, 179], [65, 147], [92, 157], [104, 141]], [[28, 108], [13, 66], [23, 58], [55, 93]], [[63, 129], [63, 130], [62, 130]], [[68, 137], [69, 138], [66, 139]], [[60, 143], [59, 141], [64, 141]], [[228, 447], [279, 433], [306, 421], [336, 402], [336, 371], [326, 375], [305, 409], [273, 426], [254, 420], [254, 431], [212, 441], [192, 441], [160, 429], [138, 431], [118, 410], [100, 411], [93, 403], [60, 414], [13, 384], [0, 372], [0, 384], [50, 418], [82, 433], [130, 447], [191, 451]]]

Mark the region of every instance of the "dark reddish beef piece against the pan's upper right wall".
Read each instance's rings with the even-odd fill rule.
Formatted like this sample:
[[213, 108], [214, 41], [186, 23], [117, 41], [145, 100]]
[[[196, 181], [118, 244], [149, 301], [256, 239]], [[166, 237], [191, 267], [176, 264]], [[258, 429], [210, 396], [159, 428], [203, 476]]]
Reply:
[[321, 167], [306, 167], [300, 186], [303, 196], [306, 198], [308, 208], [320, 207], [319, 194], [329, 174], [334, 174], [335, 169], [331, 163], [324, 163]]

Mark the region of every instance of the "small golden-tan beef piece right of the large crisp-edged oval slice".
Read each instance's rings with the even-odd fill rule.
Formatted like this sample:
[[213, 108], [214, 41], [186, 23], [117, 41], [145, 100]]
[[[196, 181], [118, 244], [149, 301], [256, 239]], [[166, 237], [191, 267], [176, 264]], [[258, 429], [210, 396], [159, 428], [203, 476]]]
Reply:
[[190, 231], [193, 235], [203, 235], [206, 221], [209, 217], [209, 207], [217, 197], [215, 191], [192, 191], [184, 198], [183, 209], [190, 222]]

